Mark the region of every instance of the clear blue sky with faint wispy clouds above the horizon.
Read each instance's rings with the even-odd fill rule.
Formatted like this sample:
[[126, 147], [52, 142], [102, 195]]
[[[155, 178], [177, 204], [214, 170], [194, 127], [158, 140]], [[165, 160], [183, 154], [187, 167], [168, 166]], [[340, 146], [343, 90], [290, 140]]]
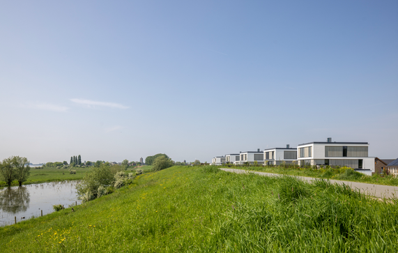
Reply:
[[398, 157], [398, 1], [2, 1], [0, 159]]

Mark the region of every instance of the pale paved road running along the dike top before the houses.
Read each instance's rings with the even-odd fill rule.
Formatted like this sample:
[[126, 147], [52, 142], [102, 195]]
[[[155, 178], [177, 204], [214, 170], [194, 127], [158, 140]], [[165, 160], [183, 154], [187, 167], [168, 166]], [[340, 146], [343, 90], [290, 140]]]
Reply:
[[[243, 169], [225, 169], [222, 168], [223, 171], [234, 172], [237, 174], [245, 174], [245, 173], [254, 173], [259, 174], [261, 176], [284, 176], [282, 174], [273, 174], [259, 171], [245, 171]], [[300, 178], [303, 181], [311, 182], [319, 178], [309, 178], [306, 176], [295, 176]], [[390, 185], [374, 185], [371, 183], [358, 183], [358, 182], [350, 182], [350, 181], [339, 181], [339, 180], [330, 180], [330, 183], [337, 183], [339, 185], [349, 185], [352, 189], [359, 189], [360, 192], [365, 193], [372, 197], [378, 198], [397, 198], [398, 197], [398, 187], [390, 186]]]

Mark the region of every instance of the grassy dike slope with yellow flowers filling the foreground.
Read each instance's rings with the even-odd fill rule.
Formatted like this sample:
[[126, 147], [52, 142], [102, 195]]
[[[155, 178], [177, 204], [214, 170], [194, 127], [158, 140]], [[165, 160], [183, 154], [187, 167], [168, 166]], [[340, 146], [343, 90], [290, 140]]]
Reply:
[[326, 181], [171, 167], [0, 228], [0, 252], [398, 252], [397, 204]]

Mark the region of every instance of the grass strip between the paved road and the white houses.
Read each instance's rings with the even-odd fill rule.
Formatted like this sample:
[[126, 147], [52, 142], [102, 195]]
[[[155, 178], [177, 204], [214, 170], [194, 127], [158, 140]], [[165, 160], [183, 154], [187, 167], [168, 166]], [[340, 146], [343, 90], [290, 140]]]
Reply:
[[307, 168], [284, 168], [268, 166], [219, 166], [220, 168], [245, 169], [248, 171], [261, 171], [267, 173], [284, 174], [289, 176], [308, 176], [312, 178], [328, 178], [333, 180], [353, 181], [360, 183], [372, 183], [375, 185], [395, 185], [398, 186], [398, 178], [394, 176], [373, 175], [367, 176], [356, 172], [353, 174], [338, 173], [338, 169], [307, 169]]

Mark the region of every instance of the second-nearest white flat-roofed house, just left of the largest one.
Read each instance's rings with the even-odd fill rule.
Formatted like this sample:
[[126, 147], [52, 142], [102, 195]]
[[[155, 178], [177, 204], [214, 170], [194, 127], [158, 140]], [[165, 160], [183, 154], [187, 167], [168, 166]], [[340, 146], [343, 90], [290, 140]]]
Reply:
[[290, 148], [289, 144], [286, 148], [268, 148], [263, 151], [264, 164], [280, 165], [283, 162], [292, 164], [297, 162], [297, 148]]

